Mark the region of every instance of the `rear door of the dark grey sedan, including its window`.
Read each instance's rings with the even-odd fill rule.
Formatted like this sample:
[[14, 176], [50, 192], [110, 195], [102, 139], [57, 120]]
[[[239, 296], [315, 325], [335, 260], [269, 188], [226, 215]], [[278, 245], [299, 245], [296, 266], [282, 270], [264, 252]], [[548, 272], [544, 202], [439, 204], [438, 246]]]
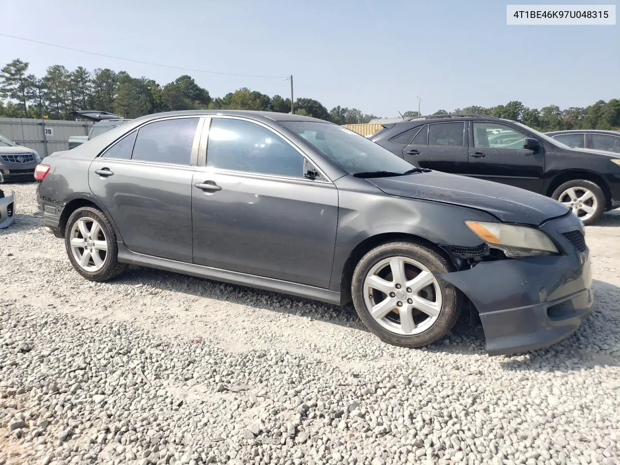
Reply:
[[192, 176], [203, 122], [171, 117], [148, 123], [92, 161], [92, 193], [128, 249], [192, 262]]

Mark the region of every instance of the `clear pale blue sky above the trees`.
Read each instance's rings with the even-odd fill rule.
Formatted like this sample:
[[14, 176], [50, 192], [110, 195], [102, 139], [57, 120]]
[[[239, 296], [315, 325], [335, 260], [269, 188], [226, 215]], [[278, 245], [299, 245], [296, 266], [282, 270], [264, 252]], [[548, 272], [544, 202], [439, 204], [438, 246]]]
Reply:
[[[510, 100], [565, 108], [620, 97], [620, 25], [508, 26], [507, 2], [497, 0], [3, 3], [2, 33], [184, 68], [293, 74], [295, 98], [317, 99], [328, 110], [392, 117], [417, 110], [416, 95], [424, 97], [422, 113]], [[14, 58], [38, 75], [51, 64], [124, 70], [162, 85], [185, 74], [0, 37], [0, 64]], [[187, 74], [212, 97], [239, 87], [290, 95], [279, 78]]]

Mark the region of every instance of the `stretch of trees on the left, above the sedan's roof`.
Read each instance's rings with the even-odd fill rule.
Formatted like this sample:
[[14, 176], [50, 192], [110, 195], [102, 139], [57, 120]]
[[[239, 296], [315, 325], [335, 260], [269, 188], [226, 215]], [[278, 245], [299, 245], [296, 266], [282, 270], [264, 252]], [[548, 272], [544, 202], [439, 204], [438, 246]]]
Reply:
[[[191, 76], [184, 74], [161, 86], [153, 79], [133, 78], [126, 71], [108, 68], [73, 71], [60, 64], [47, 68], [43, 77], [28, 73], [29, 63], [13, 60], [0, 72], [0, 117], [73, 119], [73, 110], [99, 110], [137, 118], [175, 110], [263, 110], [290, 113], [291, 99], [262, 94], [242, 87], [224, 97], [212, 98]], [[318, 100], [298, 98], [294, 112], [338, 124], [367, 123], [374, 115], [357, 108], [334, 107], [328, 111]]]

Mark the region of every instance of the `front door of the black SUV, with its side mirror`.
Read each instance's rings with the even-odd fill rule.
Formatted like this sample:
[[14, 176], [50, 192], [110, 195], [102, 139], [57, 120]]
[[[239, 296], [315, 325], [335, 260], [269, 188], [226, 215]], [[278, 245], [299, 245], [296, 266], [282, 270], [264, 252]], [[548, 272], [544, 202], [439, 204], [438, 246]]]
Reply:
[[472, 121], [469, 130], [469, 175], [541, 192], [544, 148], [523, 148], [531, 136], [505, 123]]

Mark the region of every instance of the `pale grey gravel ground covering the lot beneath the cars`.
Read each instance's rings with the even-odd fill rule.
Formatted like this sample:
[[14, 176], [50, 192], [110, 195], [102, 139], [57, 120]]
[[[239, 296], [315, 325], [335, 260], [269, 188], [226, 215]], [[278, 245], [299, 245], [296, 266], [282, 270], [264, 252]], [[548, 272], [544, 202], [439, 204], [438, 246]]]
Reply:
[[36, 185], [2, 187], [0, 465], [620, 463], [620, 211], [587, 228], [587, 322], [489, 358], [479, 327], [407, 350], [352, 307], [137, 267], [89, 283]]

